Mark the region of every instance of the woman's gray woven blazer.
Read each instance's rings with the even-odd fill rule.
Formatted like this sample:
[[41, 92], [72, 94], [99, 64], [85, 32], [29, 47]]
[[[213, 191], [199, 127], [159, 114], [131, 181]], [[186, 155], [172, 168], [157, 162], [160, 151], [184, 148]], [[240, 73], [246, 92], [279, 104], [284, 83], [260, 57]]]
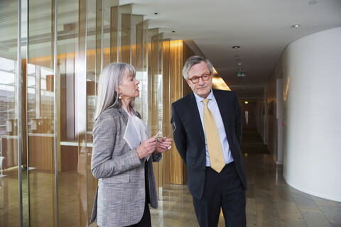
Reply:
[[[144, 214], [146, 158], [140, 160], [136, 149], [131, 150], [123, 138], [128, 118], [123, 108], [109, 108], [94, 123], [91, 172], [99, 181], [90, 222], [96, 221], [100, 227], [131, 226]], [[161, 157], [153, 153], [147, 161], [153, 208], [158, 207], [153, 161]]]

